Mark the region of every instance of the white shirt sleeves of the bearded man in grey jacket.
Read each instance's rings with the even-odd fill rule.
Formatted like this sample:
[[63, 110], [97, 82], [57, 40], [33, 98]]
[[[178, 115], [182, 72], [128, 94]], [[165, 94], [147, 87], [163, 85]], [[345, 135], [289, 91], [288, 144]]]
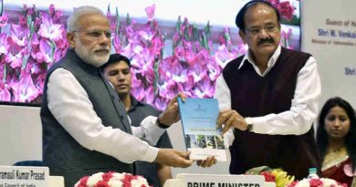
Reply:
[[[99, 151], [119, 161], [149, 161], [156, 159], [156, 144], [164, 130], [155, 125], [156, 117], [147, 117], [141, 127], [131, 127], [131, 134], [108, 125], [105, 127], [79, 81], [64, 68], [52, 72], [47, 83], [48, 109], [80, 145]], [[118, 119], [119, 120], [119, 119]]]

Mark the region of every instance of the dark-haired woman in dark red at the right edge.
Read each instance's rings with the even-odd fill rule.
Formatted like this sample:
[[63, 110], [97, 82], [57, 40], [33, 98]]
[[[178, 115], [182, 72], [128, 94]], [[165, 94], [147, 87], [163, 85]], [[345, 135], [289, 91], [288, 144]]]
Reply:
[[349, 102], [329, 99], [321, 109], [317, 144], [321, 174], [348, 186], [356, 186], [356, 117]]

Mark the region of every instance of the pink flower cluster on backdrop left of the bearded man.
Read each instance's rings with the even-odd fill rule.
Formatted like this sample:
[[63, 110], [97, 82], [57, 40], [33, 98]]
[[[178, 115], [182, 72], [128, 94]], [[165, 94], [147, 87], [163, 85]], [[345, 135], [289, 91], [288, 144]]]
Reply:
[[[51, 16], [60, 12], [49, 7]], [[64, 56], [68, 43], [64, 25], [54, 24], [58, 19], [36, 7], [24, 5], [23, 14], [18, 16], [17, 24], [9, 24], [9, 31], [0, 34], [1, 63], [6, 63], [5, 80], [0, 86], [2, 100], [32, 102], [42, 94], [46, 71], [53, 61]], [[3, 21], [5, 16], [2, 16]], [[0, 20], [1, 22], [1, 20]], [[4, 66], [1, 66], [4, 67]], [[4, 72], [4, 71], [2, 71]]]

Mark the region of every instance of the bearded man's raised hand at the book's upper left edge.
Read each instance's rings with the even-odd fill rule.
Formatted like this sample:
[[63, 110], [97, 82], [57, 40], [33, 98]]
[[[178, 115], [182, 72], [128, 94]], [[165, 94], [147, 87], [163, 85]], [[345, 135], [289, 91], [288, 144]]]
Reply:
[[177, 122], [180, 119], [178, 102], [177, 99], [182, 98], [185, 100], [185, 95], [183, 93], [177, 94], [169, 103], [166, 109], [162, 111], [158, 117], [161, 124], [166, 126], [171, 126], [173, 123]]

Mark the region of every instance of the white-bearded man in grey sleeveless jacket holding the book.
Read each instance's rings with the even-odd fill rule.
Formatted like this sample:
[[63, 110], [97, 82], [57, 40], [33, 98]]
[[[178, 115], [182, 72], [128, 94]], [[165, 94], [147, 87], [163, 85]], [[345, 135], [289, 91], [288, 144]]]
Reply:
[[47, 72], [41, 106], [43, 161], [51, 175], [64, 176], [66, 186], [74, 186], [82, 176], [99, 171], [133, 173], [133, 161], [190, 166], [189, 152], [151, 146], [178, 120], [176, 99], [184, 96], [171, 100], [159, 118], [131, 128], [99, 69], [110, 57], [108, 18], [96, 7], [76, 8], [68, 17], [67, 39], [66, 56]]

